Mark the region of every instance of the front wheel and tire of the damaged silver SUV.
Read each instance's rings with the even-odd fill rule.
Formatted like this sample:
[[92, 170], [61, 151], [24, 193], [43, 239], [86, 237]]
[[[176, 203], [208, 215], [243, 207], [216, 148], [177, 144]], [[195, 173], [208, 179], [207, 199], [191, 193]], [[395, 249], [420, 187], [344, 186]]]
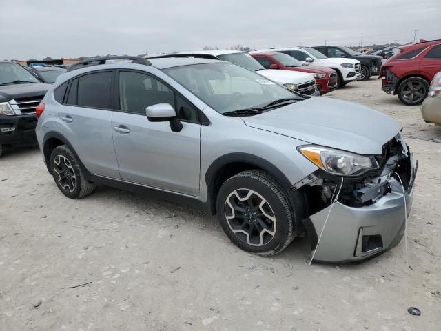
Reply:
[[271, 256], [296, 236], [296, 217], [287, 194], [262, 170], [246, 170], [225, 181], [217, 210], [225, 234], [247, 252]]

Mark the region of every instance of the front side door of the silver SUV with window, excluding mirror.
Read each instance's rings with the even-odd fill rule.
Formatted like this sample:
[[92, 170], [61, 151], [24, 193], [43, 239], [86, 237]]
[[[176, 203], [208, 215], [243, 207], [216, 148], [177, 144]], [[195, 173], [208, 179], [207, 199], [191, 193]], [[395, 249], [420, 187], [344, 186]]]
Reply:
[[[201, 123], [198, 110], [165, 82], [145, 72], [120, 70], [116, 76], [118, 111], [112, 132], [124, 181], [198, 196]], [[145, 108], [170, 103], [183, 123], [150, 122]]]

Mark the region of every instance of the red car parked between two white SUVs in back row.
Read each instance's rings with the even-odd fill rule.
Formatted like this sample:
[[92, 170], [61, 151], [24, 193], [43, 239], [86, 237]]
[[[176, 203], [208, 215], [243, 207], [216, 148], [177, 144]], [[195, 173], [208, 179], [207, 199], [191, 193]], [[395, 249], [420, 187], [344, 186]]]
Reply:
[[331, 68], [313, 65], [305, 66], [298, 59], [294, 59], [294, 57], [285, 53], [254, 52], [251, 55], [266, 69], [293, 70], [313, 74], [320, 93], [326, 93], [337, 88], [337, 72]]

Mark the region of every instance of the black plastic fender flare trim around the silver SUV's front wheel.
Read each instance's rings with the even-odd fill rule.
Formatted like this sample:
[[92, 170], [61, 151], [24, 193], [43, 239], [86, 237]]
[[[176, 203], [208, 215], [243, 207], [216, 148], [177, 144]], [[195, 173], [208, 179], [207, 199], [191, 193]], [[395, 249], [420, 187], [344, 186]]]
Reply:
[[271, 174], [276, 181], [282, 185], [282, 187], [289, 192], [289, 188], [291, 188], [291, 182], [289, 179], [285, 176], [285, 174], [280, 171], [274, 164], [272, 164], [270, 161], [263, 159], [262, 157], [257, 157], [254, 154], [248, 154], [248, 153], [229, 153], [225, 154], [222, 157], [218, 157], [218, 159], [214, 160], [211, 165], [209, 165], [209, 168], [207, 169], [207, 172], [205, 172], [205, 183], [207, 185], [207, 203], [210, 205], [210, 212], [212, 214], [216, 214], [216, 197], [217, 192], [214, 192], [214, 188], [216, 188], [216, 175], [218, 172], [225, 167], [225, 165], [228, 165], [229, 163], [249, 163], [251, 165], [254, 165], [256, 168], [261, 168]]

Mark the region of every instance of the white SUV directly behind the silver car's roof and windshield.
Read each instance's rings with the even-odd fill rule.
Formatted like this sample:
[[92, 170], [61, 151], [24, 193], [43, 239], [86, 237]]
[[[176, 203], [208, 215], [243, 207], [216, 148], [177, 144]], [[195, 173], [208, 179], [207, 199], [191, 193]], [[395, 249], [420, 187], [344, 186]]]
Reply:
[[[196, 50], [178, 54], [160, 55], [158, 57], [197, 57], [203, 59], [223, 60], [237, 64], [261, 74], [280, 85], [295, 92], [307, 95], [320, 95], [316, 87], [314, 76], [303, 72], [291, 72], [287, 70], [265, 69], [251, 55], [240, 50]], [[156, 57], [156, 58], [158, 58]], [[155, 57], [150, 57], [150, 59]]]

